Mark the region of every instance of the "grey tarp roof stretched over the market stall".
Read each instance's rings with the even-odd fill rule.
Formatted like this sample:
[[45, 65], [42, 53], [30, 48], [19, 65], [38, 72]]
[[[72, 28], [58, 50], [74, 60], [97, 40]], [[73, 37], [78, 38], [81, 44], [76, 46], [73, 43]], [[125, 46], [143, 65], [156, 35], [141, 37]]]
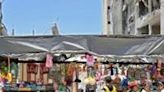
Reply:
[[0, 37], [0, 55], [55, 51], [86, 51], [97, 55], [164, 54], [163, 36], [14, 36]]

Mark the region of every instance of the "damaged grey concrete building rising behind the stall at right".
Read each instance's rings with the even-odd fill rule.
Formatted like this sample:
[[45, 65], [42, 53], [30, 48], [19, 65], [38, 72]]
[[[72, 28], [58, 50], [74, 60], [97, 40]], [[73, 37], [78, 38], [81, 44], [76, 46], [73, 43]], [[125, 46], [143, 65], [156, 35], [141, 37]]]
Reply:
[[164, 35], [164, 0], [104, 0], [103, 34]]

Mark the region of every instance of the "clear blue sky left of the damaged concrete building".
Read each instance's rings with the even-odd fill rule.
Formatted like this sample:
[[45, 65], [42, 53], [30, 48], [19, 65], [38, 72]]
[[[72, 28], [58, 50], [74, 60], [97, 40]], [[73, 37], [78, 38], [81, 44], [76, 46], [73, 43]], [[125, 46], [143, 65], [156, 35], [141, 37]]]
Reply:
[[102, 0], [4, 0], [3, 23], [9, 35], [51, 34], [57, 23], [63, 35], [101, 34]]

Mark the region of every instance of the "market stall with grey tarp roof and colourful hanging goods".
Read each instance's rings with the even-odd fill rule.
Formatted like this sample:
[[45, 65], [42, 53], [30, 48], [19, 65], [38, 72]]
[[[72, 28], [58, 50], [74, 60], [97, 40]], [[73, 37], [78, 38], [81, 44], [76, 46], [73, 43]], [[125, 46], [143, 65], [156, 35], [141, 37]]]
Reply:
[[143, 76], [163, 81], [163, 36], [28, 36], [0, 42], [1, 56], [10, 61], [1, 71], [15, 80], [2, 86], [8, 91], [100, 92], [108, 76], [117, 89], [140, 85]]

